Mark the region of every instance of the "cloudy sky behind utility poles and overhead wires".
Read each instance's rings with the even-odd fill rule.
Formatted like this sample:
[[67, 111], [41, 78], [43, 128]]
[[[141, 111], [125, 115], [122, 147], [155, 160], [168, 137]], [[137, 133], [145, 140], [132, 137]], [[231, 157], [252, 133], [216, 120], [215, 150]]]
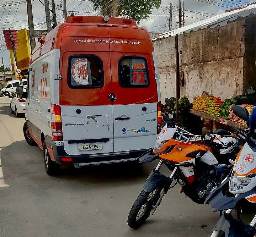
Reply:
[[[46, 29], [44, 0], [32, 0], [32, 11], [35, 29]], [[52, 0], [49, 0], [51, 3]], [[62, 0], [55, 0], [57, 23], [63, 23]], [[153, 9], [152, 14], [139, 24], [149, 32], [166, 32], [169, 29], [169, 4], [171, 0], [162, 0], [159, 9]], [[182, 8], [185, 12], [185, 26], [209, 17], [223, 13], [225, 10], [243, 6], [249, 0], [183, 0]], [[183, 7], [184, 4], [184, 7]], [[98, 15], [100, 10], [94, 11], [89, 0], [66, 0], [68, 15], [72, 11], [75, 15]], [[177, 28], [178, 0], [172, 0], [172, 29]], [[50, 9], [52, 8], [50, 4]], [[3, 29], [28, 28], [26, 0], [0, 0], [0, 59], [3, 57], [5, 67], [9, 67], [10, 55], [6, 50]], [[1, 60], [0, 60], [1, 62]]]

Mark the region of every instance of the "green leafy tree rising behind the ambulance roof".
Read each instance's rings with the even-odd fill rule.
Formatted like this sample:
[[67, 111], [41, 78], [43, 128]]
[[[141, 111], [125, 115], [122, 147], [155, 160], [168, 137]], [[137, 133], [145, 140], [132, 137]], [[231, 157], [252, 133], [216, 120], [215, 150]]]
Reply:
[[103, 16], [126, 17], [140, 23], [152, 14], [152, 9], [158, 9], [161, 0], [91, 0], [94, 10], [101, 9]]

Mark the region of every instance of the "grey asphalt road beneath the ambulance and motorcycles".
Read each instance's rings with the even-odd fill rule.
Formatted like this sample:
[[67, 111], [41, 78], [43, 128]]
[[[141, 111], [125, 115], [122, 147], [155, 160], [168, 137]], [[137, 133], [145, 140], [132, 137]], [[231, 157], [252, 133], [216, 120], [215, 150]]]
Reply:
[[178, 187], [169, 191], [144, 226], [129, 228], [130, 207], [156, 163], [141, 169], [65, 167], [61, 175], [48, 176], [42, 151], [26, 143], [25, 119], [10, 113], [9, 101], [0, 98], [0, 236], [209, 236], [219, 214], [193, 203]]

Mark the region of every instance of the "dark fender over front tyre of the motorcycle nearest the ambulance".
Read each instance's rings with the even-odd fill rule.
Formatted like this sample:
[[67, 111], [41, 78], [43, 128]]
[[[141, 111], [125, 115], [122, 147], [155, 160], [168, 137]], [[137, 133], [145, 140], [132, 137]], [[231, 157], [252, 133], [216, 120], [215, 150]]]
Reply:
[[145, 192], [150, 193], [155, 188], [164, 188], [165, 192], [167, 192], [168, 188], [171, 185], [172, 180], [169, 177], [166, 177], [165, 175], [162, 175], [156, 170], [153, 170], [153, 173], [147, 178], [143, 190]]

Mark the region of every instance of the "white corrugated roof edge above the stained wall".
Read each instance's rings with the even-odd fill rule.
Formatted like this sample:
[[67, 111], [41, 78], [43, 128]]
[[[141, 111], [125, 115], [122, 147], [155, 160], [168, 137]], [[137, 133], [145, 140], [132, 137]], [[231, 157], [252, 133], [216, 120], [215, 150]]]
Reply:
[[225, 12], [218, 16], [213, 16], [205, 20], [198, 21], [190, 25], [156, 35], [152, 37], [152, 40], [155, 41], [158, 39], [174, 36], [176, 34], [189, 33], [192, 31], [194, 32], [194, 31], [198, 31], [198, 29], [204, 29], [208, 27], [214, 28], [216, 26], [225, 26], [228, 22], [235, 21], [238, 18], [248, 17], [250, 14], [255, 15], [255, 13], [256, 13], [256, 4], [251, 4], [249, 6], [242, 7], [241, 9], [238, 9], [238, 10]]

